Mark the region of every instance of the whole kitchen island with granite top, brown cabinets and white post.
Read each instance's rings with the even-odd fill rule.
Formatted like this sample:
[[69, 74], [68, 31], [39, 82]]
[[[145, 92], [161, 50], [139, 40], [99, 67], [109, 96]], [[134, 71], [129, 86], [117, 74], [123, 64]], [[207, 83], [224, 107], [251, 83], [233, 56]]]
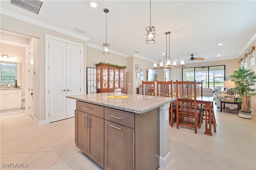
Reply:
[[104, 169], [157, 169], [170, 162], [171, 97], [113, 93], [67, 96], [76, 100], [76, 146]]

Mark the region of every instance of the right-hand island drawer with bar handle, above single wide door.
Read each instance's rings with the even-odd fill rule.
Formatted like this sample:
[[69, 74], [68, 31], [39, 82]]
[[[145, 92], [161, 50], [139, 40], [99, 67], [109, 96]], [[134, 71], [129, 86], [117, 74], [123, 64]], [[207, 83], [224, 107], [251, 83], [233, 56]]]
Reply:
[[126, 127], [134, 128], [134, 113], [105, 107], [104, 119]]

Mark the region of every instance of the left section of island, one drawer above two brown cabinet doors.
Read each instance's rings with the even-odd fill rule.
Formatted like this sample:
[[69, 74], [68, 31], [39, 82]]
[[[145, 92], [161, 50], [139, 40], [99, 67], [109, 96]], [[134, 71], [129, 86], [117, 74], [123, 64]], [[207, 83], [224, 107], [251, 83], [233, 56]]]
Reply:
[[104, 119], [98, 116], [104, 118], [104, 107], [76, 102], [76, 146], [97, 164], [104, 167]]

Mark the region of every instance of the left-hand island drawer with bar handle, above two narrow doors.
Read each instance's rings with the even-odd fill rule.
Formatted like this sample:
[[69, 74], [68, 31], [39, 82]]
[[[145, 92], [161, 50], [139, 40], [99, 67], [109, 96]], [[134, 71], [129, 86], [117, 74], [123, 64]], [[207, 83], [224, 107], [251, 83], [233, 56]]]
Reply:
[[104, 107], [76, 101], [76, 109], [104, 119]]

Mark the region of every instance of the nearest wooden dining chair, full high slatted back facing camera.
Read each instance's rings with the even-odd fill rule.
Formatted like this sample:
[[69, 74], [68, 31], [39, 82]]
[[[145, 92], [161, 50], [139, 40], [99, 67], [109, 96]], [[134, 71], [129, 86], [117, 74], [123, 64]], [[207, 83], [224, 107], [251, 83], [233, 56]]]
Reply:
[[176, 110], [177, 128], [179, 125], [194, 128], [197, 133], [200, 109], [196, 108], [196, 81], [176, 81], [176, 102], [180, 106]]

